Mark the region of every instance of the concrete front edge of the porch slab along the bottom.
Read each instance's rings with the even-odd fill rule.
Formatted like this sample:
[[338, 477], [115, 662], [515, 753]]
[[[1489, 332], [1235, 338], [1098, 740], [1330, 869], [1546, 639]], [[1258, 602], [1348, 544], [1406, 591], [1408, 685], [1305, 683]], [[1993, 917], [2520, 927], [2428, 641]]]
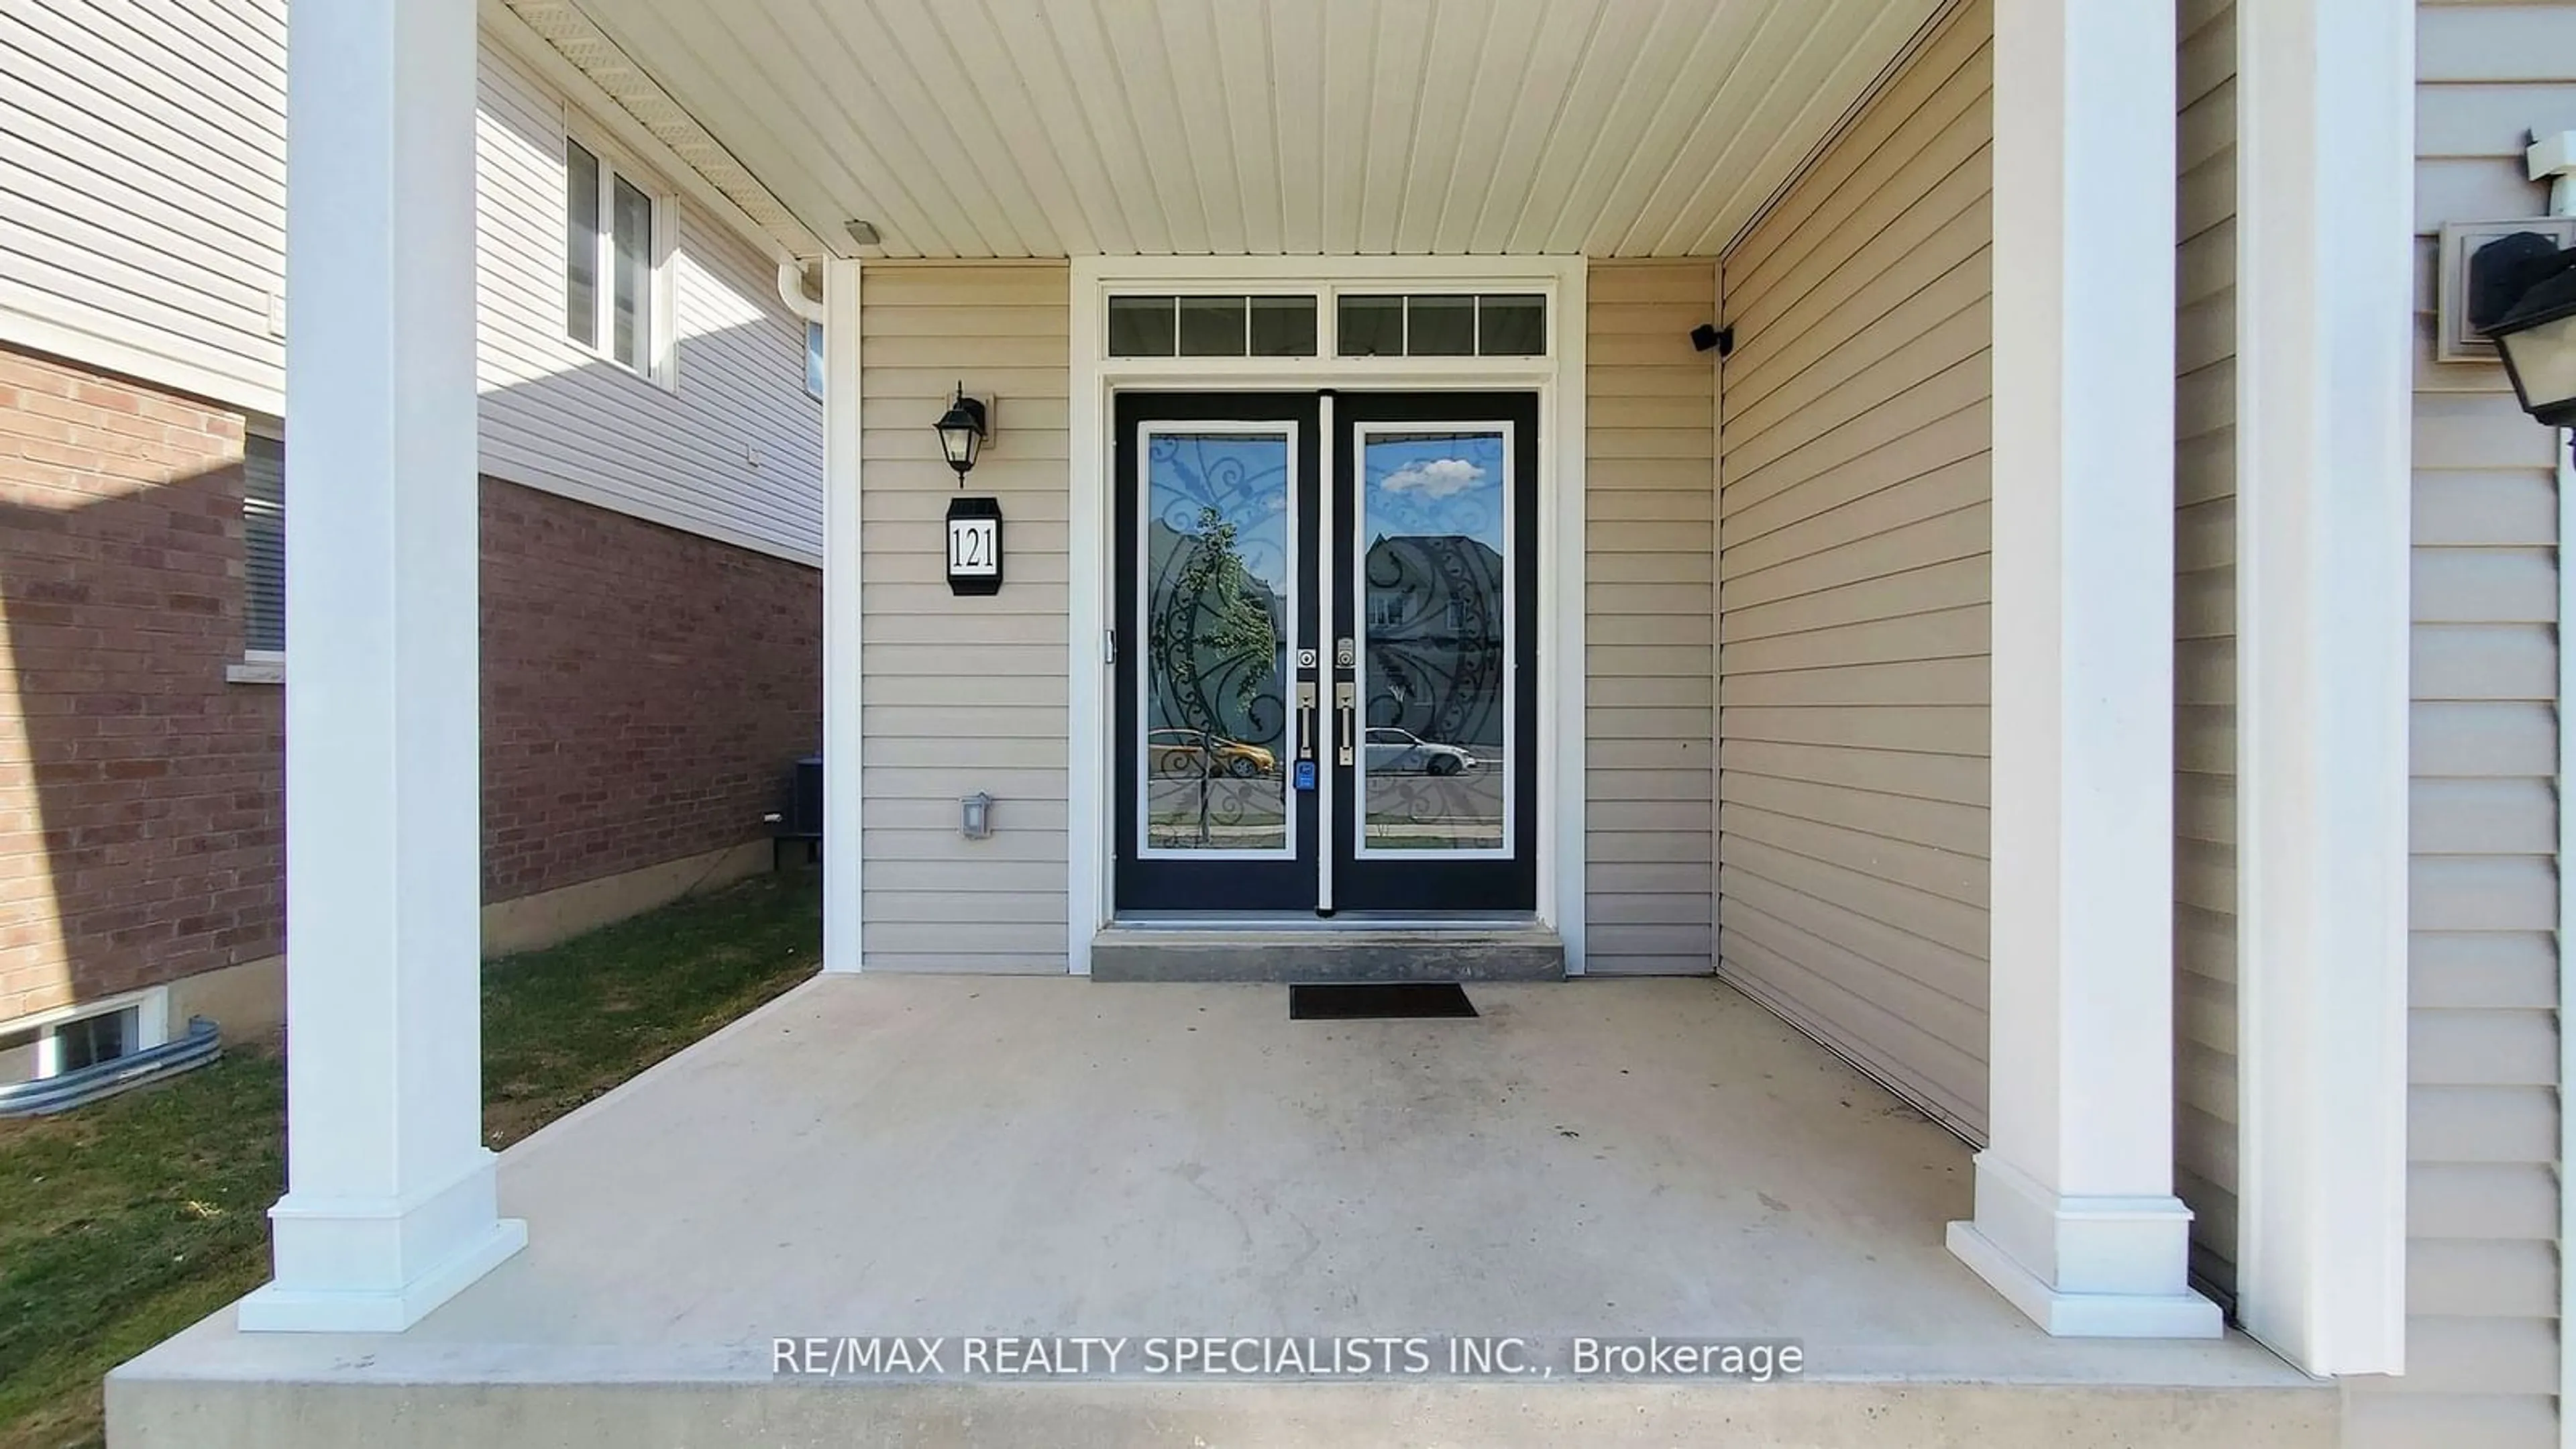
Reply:
[[[286, 1336], [294, 1338], [294, 1336]], [[222, 1374], [196, 1382], [118, 1369], [111, 1449], [1311, 1449], [1479, 1444], [1492, 1449], [2334, 1449], [2339, 1405], [2316, 1387], [1832, 1382], [814, 1382], [626, 1377], [479, 1379]], [[345, 1364], [366, 1364], [353, 1351]], [[443, 1364], [451, 1374], [456, 1361]], [[554, 1364], [562, 1372], [564, 1364]], [[544, 1369], [538, 1369], [544, 1372]]]

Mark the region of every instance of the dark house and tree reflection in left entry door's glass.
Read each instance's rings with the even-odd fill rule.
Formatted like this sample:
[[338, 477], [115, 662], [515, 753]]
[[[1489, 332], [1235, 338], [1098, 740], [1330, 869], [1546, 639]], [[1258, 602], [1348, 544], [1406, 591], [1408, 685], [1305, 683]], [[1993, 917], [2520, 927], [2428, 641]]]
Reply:
[[1288, 601], [1242, 557], [1231, 565], [1206, 534], [1149, 523], [1144, 727], [1278, 750], [1288, 722]]

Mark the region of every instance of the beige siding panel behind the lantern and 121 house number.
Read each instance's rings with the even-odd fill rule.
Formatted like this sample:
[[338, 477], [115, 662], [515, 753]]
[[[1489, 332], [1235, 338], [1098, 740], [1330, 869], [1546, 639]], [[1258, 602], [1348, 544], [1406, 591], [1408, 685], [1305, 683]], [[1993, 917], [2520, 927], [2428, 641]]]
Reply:
[[[860, 673], [868, 969], [1064, 972], [1064, 263], [878, 263], [860, 284]], [[948, 593], [958, 480], [930, 420], [999, 394], [974, 492], [1002, 500], [1010, 585]], [[989, 792], [992, 838], [958, 835]]]

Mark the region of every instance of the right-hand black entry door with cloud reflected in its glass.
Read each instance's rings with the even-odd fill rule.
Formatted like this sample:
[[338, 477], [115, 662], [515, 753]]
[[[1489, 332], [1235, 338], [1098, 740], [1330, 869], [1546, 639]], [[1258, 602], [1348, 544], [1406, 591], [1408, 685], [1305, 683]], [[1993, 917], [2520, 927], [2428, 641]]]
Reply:
[[1342, 392], [1332, 897], [1538, 905], [1538, 400]]

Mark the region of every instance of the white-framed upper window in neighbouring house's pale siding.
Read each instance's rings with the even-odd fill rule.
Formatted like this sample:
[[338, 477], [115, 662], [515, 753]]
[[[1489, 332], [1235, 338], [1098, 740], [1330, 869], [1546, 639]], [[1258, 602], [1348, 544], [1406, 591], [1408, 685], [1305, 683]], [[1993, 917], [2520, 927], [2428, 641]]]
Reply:
[[564, 335], [670, 384], [667, 199], [564, 137]]

